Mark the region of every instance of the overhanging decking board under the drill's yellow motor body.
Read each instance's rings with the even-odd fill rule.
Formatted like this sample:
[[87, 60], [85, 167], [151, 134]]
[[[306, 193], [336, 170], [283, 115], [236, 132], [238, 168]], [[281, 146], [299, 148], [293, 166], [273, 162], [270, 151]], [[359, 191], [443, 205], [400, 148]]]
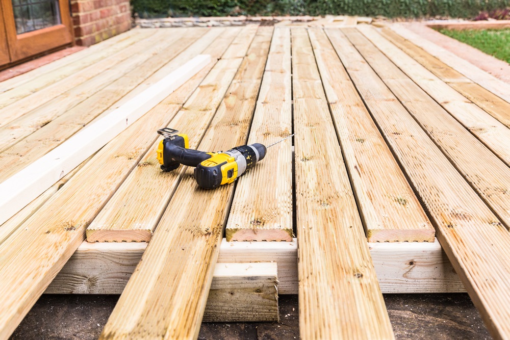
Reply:
[[[246, 142], [271, 34], [259, 28], [199, 149]], [[186, 169], [101, 339], [198, 336], [233, 191], [202, 190]]]

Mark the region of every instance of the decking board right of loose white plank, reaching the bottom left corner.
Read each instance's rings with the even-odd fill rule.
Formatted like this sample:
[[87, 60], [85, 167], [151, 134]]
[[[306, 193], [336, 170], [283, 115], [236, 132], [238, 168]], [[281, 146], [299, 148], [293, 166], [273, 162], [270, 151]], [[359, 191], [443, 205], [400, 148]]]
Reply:
[[[205, 74], [162, 101], [183, 103]], [[7, 338], [85, 238], [85, 229], [169, 117], [149, 111], [75, 174], [0, 245], [0, 338]]]

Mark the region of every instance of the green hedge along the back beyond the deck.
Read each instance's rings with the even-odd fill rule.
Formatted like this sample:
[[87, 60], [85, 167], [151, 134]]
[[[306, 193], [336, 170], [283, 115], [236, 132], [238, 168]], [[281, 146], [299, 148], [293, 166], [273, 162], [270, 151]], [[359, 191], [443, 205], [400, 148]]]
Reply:
[[140, 17], [225, 15], [382, 15], [471, 18], [510, 6], [510, 0], [131, 0]]

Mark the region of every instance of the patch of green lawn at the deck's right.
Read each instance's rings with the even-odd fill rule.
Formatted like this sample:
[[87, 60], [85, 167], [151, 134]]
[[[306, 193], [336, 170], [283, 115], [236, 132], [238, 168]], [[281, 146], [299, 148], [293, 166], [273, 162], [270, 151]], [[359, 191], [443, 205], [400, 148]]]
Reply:
[[439, 32], [510, 63], [510, 29], [462, 31], [441, 29]]

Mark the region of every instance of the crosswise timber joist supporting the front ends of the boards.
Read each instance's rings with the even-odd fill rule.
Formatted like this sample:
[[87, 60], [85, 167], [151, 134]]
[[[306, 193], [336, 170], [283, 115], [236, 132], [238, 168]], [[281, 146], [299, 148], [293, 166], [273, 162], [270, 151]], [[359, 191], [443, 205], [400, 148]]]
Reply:
[[[48, 286], [48, 294], [121, 294], [147, 243], [83, 242]], [[382, 293], [466, 292], [437, 240], [369, 243]], [[297, 294], [297, 239], [227, 242], [218, 263], [276, 263], [278, 294]], [[214, 280], [214, 279], [213, 279]], [[206, 308], [207, 310], [207, 308]]]

